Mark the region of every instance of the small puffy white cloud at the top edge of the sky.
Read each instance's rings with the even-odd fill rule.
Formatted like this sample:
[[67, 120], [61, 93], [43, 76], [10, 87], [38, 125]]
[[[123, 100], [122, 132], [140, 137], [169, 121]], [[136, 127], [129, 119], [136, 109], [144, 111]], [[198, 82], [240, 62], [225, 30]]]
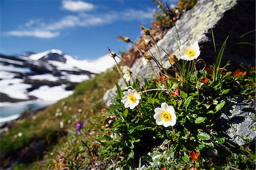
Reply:
[[65, 10], [69, 10], [69, 11], [72, 11], [72, 12], [90, 11], [90, 10], [93, 10], [93, 8], [94, 8], [92, 3], [86, 3], [86, 2], [83, 2], [83, 1], [71, 1], [71, 0], [62, 1], [62, 7]]

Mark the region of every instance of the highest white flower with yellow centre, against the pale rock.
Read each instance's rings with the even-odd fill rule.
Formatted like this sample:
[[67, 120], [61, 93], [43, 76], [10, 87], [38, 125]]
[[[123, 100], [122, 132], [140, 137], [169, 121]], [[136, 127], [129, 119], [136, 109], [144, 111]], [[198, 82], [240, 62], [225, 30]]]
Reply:
[[180, 46], [180, 58], [184, 60], [193, 60], [200, 55], [198, 42], [185, 42]]

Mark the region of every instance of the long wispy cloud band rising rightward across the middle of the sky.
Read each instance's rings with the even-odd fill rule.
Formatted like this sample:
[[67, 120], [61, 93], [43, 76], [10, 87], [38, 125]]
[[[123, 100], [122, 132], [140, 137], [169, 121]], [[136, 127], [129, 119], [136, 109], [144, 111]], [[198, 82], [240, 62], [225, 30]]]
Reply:
[[42, 20], [29, 20], [20, 25], [18, 30], [6, 32], [9, 36], [31, 36], [43, 39], [51, 39], [60, 35], [61, 29], [72, 27], [92, 27], [102, 24], [110, 24], [119, 21], [133, 21], [152, 19], [151, 10], [129, 9], [121, 12], [108, 11], [104, 14], [80, 13], [77, 15], [67, 15], [54, 22], [45, 23]]

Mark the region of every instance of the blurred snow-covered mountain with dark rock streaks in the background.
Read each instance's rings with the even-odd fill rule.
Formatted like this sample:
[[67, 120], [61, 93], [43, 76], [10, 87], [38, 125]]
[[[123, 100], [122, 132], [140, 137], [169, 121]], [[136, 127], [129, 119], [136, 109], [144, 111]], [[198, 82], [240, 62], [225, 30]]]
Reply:
[[103, 56], [80, 61], [61, 50], [47, 50], [22, 56], [0, 54], [0, 105], [27, 100], [59, 100], [72, 94], [77, 83], [114, 65]]

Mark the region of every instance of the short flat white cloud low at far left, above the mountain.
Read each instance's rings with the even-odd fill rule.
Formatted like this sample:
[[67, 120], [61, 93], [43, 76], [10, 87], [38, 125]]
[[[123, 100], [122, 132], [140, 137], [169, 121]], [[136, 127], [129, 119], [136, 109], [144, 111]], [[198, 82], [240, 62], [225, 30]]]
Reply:
[[59, 32], [43, 31], [43, 30], [34, 30], [34, 31], [9, 31], [6, 32], [6, 35], [17, 36], [17, 37], [38, 37], [42, 39], [51, 39], [60, 35]]

